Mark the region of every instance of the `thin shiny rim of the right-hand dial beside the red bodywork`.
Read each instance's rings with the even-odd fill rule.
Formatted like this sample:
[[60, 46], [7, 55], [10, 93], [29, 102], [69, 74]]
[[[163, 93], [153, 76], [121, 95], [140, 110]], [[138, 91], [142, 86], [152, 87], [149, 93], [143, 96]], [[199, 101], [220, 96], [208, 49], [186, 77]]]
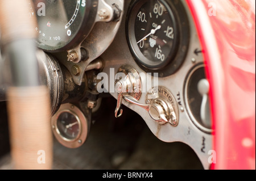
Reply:
[[213, 132], [213, 129], [204, 127], [203, 125], [201, 125], [199, 123], [198, 120], [196, 120], [195, 116], [193, 116], [193, 113], [192, 113], [191, 108], [189, 107], [189, 103], [188, 103], [188, 91], [189, 91], [188, 84], [191, 81], [191, 77], [192, 77], [193, 73], [195, 73], [195, 71], [197, 71], [201, 68], [205, 69], [205, 65], [203, 63], [197, 64], [189, 70], [187, 77], [185, 78], [185, 82], [184, 82], [183, 96], [184, 96], [184, 102], [185, 102], [185, 109], [187, 110], [188, 117], [190, 118], [192, 123], [197, 128], [199, 128], [200, 131], [203, 131], [204, 133], [207, 133], [207, 134], [211, 134]]

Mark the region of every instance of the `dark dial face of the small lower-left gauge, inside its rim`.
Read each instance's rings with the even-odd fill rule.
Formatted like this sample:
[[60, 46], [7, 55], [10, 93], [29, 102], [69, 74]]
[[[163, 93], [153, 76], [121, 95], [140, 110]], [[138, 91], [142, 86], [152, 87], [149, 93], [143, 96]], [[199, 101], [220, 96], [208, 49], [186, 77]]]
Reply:
[[80, 133], [80, 123], [72, 113], [63, 112], [57, 118], [57, 129], [62, 137], [75, 140]]

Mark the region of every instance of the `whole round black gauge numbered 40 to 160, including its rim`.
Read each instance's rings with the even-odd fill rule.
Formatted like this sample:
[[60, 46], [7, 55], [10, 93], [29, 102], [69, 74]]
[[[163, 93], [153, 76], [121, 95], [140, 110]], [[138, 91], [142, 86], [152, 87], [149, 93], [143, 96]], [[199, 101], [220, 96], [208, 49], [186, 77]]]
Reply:
[[[172, 3], [170, 0], [135, 0], [130, 5], [126, 23], [127, 41], [135, 61], [146, 70], [162, 70], [172, 62], [180, 61], [175, 62], [177, 68], [184, 58], [175, 60], [180, 45], [186, 45], [183, 47], [184, 54], [187, 49], [188, 28], [185, 32], [180, 30], [182, 24], [188, 26], [188, 23], [181, 3], [177, 2], [177, 7]], [[186, 42], [181, 37], [184, 34]], [[172, 70], [167, 71], [170, 73]]]

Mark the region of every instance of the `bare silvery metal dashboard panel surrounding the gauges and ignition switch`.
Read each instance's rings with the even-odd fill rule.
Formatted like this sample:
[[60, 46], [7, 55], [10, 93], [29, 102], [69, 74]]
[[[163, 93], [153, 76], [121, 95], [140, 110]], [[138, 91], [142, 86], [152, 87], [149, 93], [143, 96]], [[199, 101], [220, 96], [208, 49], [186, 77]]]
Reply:
[[[103, 82], [104, 85], [109, 85], [109, 90], [106, 91], [110, 92], [114, 98], [117, 98], [117, 93], [115, 93], [112, 88], [110, 88], [114, 87], [114, 81], [111, 80], [115, 78], [115, 74], [117, 74], [118, 69], [122, 65], [126, 64], [133, 66], [133, 68], [135, 68], [138, 73], [145, 73], [135, 62], [133, 56], [130, 53], [130, 49], [126, 40], [125, 18], [127, 16], [126, 12], [130, 2], [131, 1], [125, 1], [125, 14], [123, 15], [121, 27], [112, 45], [110, 45], [106, 52], [101, 56], [106, 63], [103, 72], [109, 75], [109, 79], [104, 79]], [[186, 1], [183, 0], [181, 2], [187, 11], [190, 22], [189, 26], [191, 28], [187, 57], [185, 58], [181, 68], [175, 74], [158, 79], [158, 85], [165, 87], [175, 96], [176, 102], [179, 105], [179, 125], [177, 125], [177, 127], [172, 127], [170, 124], [159, 125], [142, 108], [127, 103], [124, 100], [123, 104], [141, 115], [141, 117], [148, 125], [148, 128], [150, 128], [151, 132], [155, 134], [155, 136], [160, 140], [164, 142], [179, 141], [191, 146], [191, 148], [196, 152], [199, 159], [201, 160], [204, 168], [209, 169], [210, 163], [208, 162], [208, 158], [211, 153], [210, 150], [212, 150], [212, 135], [200, 131], [200, 129], [198, 129], [195, 124], [192, 123], [187, 111], [185, 110], [185, 101], [183, 97], [185, 78], [193, 66], [203, 63], [204, 60], [201, 53], [196, 53], [198, 50], [201, 50], [201, 44], [197, 35], [195, 24], [193, 24], [192, 15], [190, 15], [191, 12], [189, 11]], [[142, 79], [142, 82], [143, 81], [146, 80]], [[140, 103], [146, 103], [146, 95], [147, 91], [142, 90], [141, 99], [139, 99]]]

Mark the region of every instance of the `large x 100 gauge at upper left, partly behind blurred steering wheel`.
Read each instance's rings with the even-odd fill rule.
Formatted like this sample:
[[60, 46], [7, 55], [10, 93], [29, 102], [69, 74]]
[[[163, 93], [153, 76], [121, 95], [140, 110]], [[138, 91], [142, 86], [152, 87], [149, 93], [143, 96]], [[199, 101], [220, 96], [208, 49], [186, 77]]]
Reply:
[[[30, 0], [36, 16], [38, 47], [48, 51], [72, 49], [85, 39], [96, 18], [97, 1]], [[32, 8], [34, 7], [34, 8]]]

